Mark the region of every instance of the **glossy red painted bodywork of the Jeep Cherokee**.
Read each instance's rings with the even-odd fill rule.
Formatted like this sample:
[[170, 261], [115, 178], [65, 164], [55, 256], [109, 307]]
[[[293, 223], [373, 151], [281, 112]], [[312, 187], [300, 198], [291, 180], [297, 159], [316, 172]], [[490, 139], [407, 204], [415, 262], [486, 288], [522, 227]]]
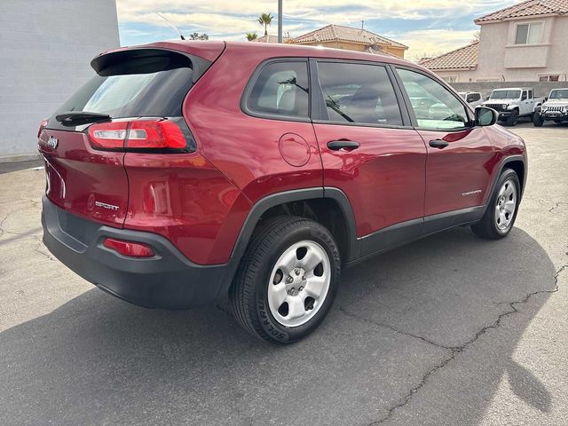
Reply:
[[[163, 42], [146, 47], [218, 58], [183, 105], [196, 152], [100, 151], [85, 133], [43, 129], [39, 150], [46, 161], [47, 196], [60, 208], [99, 223], [160, 234], [197, 264], [226, 263], [252, 205], [269, 194], [338, 187], [351, 201], [362, 237], [424, 215], [483, 204], [501, 158], [525, 154], [520, 139], [500, 126], [430, 132], [287, 122], [241, 112], [245, 85], [265, 59], [410, 65], [401, 59], [262, 43]], [[50, 136], [59, 138], [55, 149], [47, 146]], [[342, 138], [359, 142], [359, 148], [327, 148], [328, 141]], [[430, 148], [434, 138], [449, 146]], [[461, 195], [476, 189], [482, 192]], [[98, 207], [96, 201], [117, 209]]]

